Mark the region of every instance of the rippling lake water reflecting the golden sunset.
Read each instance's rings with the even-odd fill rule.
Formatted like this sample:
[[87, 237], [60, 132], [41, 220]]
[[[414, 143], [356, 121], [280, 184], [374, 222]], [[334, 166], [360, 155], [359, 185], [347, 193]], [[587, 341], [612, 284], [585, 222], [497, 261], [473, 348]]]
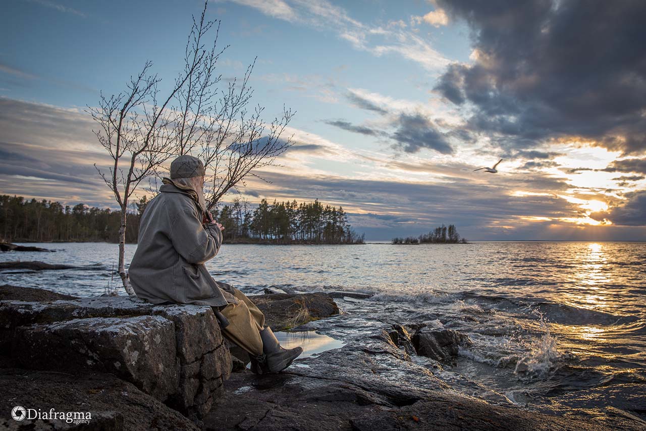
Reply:
[[[70, 295], [101, 294], [118, 246], [29, 244], [56, 253], [3, 253], [0, 260], [87, 266], [0, 273], [0, 284]], [[127, 246], [130, 260], [135, 245]], [[356, 319], [322, 330], [357, 336], [362, 324], [439, 321], [472, 346], [440, 377], [489, 401], [566, 412], [607, 404], [646, 412], [645, 242], [475, 242], [391, 246], [224, 245], [207, 268], [243, 291], [267, 286], [302, 291], [356, 290], [339, 300]], [[418, 358], [416, 360], [424, 361]]]

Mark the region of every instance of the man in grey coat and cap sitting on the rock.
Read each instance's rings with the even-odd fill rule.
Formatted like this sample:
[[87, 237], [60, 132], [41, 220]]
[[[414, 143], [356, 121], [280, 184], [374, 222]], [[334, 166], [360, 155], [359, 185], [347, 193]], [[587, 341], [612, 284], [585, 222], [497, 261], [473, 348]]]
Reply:
[[224, 230], [207, 213], [204, 175], [203, 163], [193, 156], [171, 163], [171, 178], [163, 178], [160, 194], [141, 215], [129, 269], [132, 288], [153, 304], [213, 307], [225, 337], [249, 352], [253, 372], [280, 372], [302, 348], [282, 348], [262, 311], [240, 290], [213, 280], [204, 266], [218, 254]]

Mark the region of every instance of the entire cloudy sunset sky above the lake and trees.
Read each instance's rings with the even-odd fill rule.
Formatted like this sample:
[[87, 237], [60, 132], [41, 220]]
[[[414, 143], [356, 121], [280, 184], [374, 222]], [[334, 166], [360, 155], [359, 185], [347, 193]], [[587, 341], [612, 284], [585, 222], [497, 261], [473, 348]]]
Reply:
[[[196, 0], [6, 0], [0, 194], [116, 207], [87, 107], [152, 61], [168, 91]], [[646, 240], [646, 2], [216, 0], [218, 73], [294, 145], [240, 189], [342, 205], [368, 240]], [[499, 159], [498, 173], [475, 171]], [[143, 191], [141, 192], [143, 193]]]

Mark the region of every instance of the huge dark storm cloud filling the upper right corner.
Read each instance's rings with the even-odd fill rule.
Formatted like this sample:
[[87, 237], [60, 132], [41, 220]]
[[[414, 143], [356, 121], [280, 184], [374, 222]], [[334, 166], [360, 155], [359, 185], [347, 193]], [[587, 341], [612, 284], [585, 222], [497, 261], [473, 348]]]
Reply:
[[475, 108], [468, 128], [506, 147], [581, 137], [625, 154], [646, 150], [646, 2], [438, 0], [464, 19], [473, 65], [435, 89]]

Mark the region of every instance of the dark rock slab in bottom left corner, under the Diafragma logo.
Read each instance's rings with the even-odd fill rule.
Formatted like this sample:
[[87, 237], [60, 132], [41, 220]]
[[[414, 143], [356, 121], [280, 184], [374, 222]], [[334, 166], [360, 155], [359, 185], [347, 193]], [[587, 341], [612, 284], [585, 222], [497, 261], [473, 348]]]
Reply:
[[[107, 373], [35, 372], [0, 369], [0, 429], [3, 430], [189, 430], [200, 428], [132, 383]], [[59, 420], [14, 421], [14, 406], [49, 412], [90, 412], [87, 425]]]

